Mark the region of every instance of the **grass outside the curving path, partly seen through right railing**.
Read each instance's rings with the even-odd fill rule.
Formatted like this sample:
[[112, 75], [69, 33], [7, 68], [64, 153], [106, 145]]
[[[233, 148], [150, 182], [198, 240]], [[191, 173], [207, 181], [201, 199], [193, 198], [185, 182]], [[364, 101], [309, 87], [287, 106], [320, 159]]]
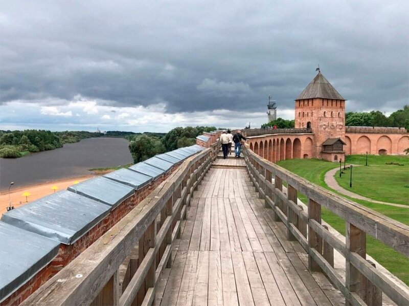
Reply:
[[[387, 162], [402, 163], [402, 160], [400, 160], [401, 157], [397, 157], [397, 159], [394, 159], [395, 157], [393, 156], [374, 157], [371, 163], [372, 164], [377, 163], [378, 165], [381, 165], [381, 164], [384, 165], [385, 157], [388, 158]], [[404, 161], [407, 161], [406, 157], [403, 157], [403, 158], [404, 158]], [[351, 156], [350, 160], [353, 161], [351, 163], [362, 164], [361, 156]], [[368, 156], [368, 161], [370, 161], [369, 156]], [[348, 159], [347, 159], [347, 162], [348, 162]], [[365, 159], [363, 160], [363, 163], [365, 164]], [[321, 187], [327, 188], [335, 193], [338, 193], [332, 190], [331, 188], [329, 188], [325, 184], [325, 181], [324, 181], [325, 172], [339, 166], [335, 163], [326, 162], [322, 160], [316, 160], [316, 159], [309, 159], [309, 160], [299, 159], [299, 160], [280, 161], [277, 164], [283, 168], [286, 168], [287, 170], [291, 172], [298, 174], [300, 177], [303, 177], [314, 184], [317, 184]], [[389, 165], [385, 165], [385, 166], [389, 166]], [[399, 167], [399, 166], [396, 166], [396, 167]], [[369, 167], [365, 167], [365, 168], [369, 168]], [[353, 169], [353, 171], [355, 171], [355, 169]], [[355, 172], [352, 173], [353, 176], [354, 176], [354, 173]], [[382, 213], [390, 218], [393, 218], [396, 221], [399, 221], [409, 226], [409, 209], [407, 208], [386, 206], [383, 204], [376, 204], [376, 203], [372, 203], [368, 201], [352, 199], [347, 196], [346, 198], [358, 204], [366, 206], [370, 209], [373, 209], [379, 213]], [[307, 198], [305, 195], [299, 194], [299, 199], [303, 201], [304, 203], [307, 203]], [[325, 208], [322, 209], [322, 218], [323, 220], [328, 222], [334, 229], [336, 229], [339, 233], [345, 235], [345, 220], [343, 220], [342, 218], [338, 217], [336, 214], [332, 213], [331, 211]], [[403, 282], [406, 283], [406, 285], [409, 285], [409, 259], [407, 257], [401, 255], [400, 253], [396, 252], [392, 248], [385, 246], [381, 242], [377, 241], [375, 238], [372, 238], [372, 236], [370, 235], [367, 235], [367, 253], [373, 256], [378, 261], [378, 263], [380, 263], [383, 267], [385, 267], [391, 273], [399, 277]]]

